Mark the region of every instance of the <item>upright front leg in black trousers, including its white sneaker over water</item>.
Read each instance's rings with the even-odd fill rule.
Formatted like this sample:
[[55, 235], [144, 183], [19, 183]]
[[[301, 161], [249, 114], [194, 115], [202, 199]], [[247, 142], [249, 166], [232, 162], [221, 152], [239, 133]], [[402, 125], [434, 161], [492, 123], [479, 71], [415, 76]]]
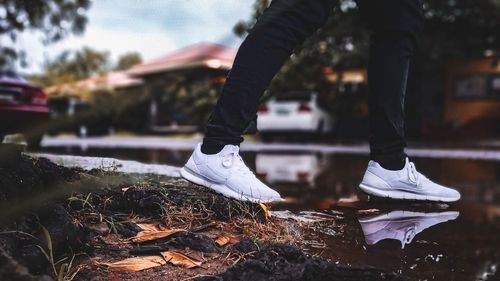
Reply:
[[358, 0], [373, 28], [368, 65], [370, 158], [359, 185], [376, 197], [455, 202], [460, 193], [419, 173], [404, 153], [404, 96], [415, 35], [422, 25], [420, 0]]

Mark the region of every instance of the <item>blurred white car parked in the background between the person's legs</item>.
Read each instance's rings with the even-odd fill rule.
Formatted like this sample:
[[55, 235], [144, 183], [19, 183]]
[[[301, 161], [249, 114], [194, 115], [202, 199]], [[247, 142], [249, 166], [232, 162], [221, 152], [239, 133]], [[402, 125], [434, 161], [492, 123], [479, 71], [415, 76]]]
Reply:
[[332, 116], [318, 106], [318, 95], [292, 92], [273, 97], [259, 107], [257, 129], [262, 135], [274, 133], [324, 134], [333, 129]]

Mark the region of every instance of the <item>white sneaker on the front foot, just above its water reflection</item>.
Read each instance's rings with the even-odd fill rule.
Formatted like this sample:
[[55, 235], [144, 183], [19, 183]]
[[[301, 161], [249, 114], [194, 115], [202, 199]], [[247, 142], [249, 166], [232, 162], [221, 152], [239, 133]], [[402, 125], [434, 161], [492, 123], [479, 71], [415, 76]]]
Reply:
[[458, 191], [432, 182], [419, 173], [408, 158], [405, 167], [399, 171], [386, 170], [370, 161], [359, 188], [369, 195], [391, 199], [437, 202], [460, 199]]

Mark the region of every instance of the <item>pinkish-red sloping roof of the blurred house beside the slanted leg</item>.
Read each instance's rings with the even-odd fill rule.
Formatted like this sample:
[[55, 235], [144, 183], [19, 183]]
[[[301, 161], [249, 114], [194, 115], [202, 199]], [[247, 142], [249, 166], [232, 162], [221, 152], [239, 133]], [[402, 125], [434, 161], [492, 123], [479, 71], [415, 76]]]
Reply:
[[235, 56], [236, 50], [232, 48], [202, 42], [179, 49], [156, 60], [135, 65], [128, 70], [128, 73], [142, 76], [194, 67], [230, 69]]

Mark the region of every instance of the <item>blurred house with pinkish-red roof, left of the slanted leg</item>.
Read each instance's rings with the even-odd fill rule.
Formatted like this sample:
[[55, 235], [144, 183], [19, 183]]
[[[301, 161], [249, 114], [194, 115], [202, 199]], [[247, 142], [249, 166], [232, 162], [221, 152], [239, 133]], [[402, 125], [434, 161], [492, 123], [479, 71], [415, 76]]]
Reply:
[[[113, 107], [113, 126], [147, 133], [195, 131], [208, 118], [231, 69], [236, 50], [202, 42], [126, 71], [46, 89], [56, 115], [73, 108]], [[110, 104], [109, 94], [121, 95]], [[102, 102], [100, 101], [102, 100]], [[96, 102], [97, 101], [97, 102]], [[195, 105], [195, 106], [194, 106]]]

